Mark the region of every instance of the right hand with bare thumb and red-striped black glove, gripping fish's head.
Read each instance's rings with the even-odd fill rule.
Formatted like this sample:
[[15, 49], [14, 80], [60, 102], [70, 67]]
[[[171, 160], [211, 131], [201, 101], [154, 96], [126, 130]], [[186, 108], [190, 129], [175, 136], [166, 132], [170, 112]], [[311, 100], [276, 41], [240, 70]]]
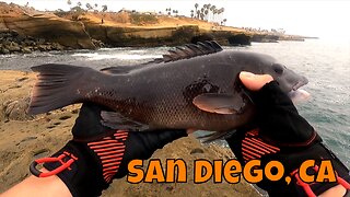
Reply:
[[[349, 170], [322, 143], [322, 138], [307, 120], [299, 115], [291, 99], [281, 91], [278, 82], [273, 81], [271, 76], [250, 72], [241, 72], [240, 79], [252, 91], [252, 99], [257, 107], [257, 128], [236, 131], [226, 139], [230, 148], [242, 165], [259, 160], [260, 169], [265, 169], [270, 161], [278, 161], [284, 167], [284, 175], [280, 181], [262, 178], [257, 185], [268, 192], [269, 196], [318, 196], [327, 193], [330, 196], [337, 193], [343, 196], [350, 183]], [[306, 160], [315, 160], [317, 165], [323, 160], [330, 160], [337, 178], [346, 181], [303, 185], [295, 174]], [[317, 170], [315, 171], [317, 173]], [[287, 182], [288, 178], [290, 183]], [[345, 184], [346, 182], [348, 184]]]

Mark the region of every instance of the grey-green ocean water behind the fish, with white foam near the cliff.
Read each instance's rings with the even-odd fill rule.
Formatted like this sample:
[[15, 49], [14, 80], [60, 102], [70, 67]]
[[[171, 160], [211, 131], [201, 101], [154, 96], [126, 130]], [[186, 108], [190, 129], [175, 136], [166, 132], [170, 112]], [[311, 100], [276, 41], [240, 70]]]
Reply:
[[[281, 42], [247, 47], [225, 47], [269, 54], [288, 68], [305, 76], [310, 83], [302, 88], [311, 100], [296, 107], [319, 132], [325, 143], [350, 167], [350, 43], [308, 39]], [[34, 53], [0, 56], [0, 69], [30, 70], [48, 63], [73, 63], [96, 69], [110, 66], [135, 65], [161, 57], [167, 47], [108, 48]]]

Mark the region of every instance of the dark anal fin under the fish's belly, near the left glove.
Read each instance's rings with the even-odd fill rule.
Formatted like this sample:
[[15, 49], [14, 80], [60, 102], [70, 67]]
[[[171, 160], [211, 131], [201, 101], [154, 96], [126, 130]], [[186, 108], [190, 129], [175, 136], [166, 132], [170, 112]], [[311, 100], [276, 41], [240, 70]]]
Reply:
[[143, 131], [149, 129], [148, 125], [125, 117], [120, 113], [103, 111], [101, 112], [101, 117], [102, 125], [113, 129], [129, 131]]

